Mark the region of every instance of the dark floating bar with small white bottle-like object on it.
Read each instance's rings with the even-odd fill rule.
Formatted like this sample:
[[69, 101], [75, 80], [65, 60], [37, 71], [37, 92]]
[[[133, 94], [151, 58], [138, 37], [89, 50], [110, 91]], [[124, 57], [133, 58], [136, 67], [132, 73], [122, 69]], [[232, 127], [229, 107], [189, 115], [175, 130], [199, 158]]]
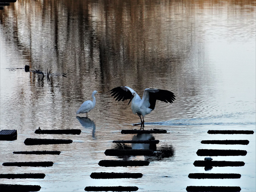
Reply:
[[244, 166], [243, 161], [195, 161], [193, 163], [196, 167], [239, 167]]

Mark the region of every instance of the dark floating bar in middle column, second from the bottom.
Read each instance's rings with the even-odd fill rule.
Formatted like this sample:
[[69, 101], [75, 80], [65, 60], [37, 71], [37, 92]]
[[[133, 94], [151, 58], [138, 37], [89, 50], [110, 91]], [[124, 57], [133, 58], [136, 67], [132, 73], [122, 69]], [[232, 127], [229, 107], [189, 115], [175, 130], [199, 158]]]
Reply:
[[91, 173], [90, 175], [93, 179], [117, 179], [117, 178], [141, 178], [142, 173], [106, 173], [106, 172], [100, 172], [100, 173]]

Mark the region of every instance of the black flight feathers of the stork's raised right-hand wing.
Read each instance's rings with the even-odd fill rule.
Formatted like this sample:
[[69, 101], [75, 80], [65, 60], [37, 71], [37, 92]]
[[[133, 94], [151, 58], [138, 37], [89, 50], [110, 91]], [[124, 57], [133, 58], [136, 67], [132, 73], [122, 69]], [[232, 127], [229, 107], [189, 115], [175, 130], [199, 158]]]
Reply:
[[154, 110], [155, 109], [155, 102], [156, 100], [163, 101], [166, 103], [173, 103], [175, 100], [175, 95], [173, 92], [163, 89], [158, 89], [159, 91], [156, 93], [149, 92], [149, 108]]

